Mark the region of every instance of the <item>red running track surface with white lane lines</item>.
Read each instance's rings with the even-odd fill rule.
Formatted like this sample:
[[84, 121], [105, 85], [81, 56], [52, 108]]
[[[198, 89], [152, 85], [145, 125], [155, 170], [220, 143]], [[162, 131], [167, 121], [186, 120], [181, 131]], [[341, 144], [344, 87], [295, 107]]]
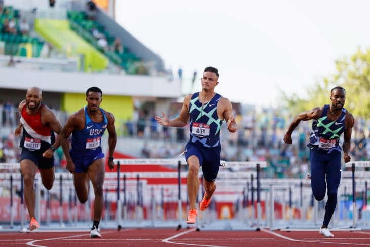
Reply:
[[334, 238], [325, 238], [318, 231], [195, 231], [182, 229], [102, 230], [103, 238], [91, 239], [88, 232], [0, 232], [0, 247], [110, 247], [110, 246], [248, 246], [248, 247], [327, 247], [370, 246], [370, 231], [332, 231]]

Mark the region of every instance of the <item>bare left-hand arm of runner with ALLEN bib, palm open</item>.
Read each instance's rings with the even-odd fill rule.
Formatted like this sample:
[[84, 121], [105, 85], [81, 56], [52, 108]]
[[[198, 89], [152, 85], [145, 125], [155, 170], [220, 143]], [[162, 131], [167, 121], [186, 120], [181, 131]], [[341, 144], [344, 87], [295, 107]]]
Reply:
[[155, 116], [154, 119], [163, 126], [183, 127], [187, 125], [190, 116], [189, 103], [191, 98], [192, 94], [188, 94], [187, 96], [185, 96], [182, 103], [180, 115], [177, 118], [170, 120], [168, 116], [164, 112], [162, 112], [163, 117]]

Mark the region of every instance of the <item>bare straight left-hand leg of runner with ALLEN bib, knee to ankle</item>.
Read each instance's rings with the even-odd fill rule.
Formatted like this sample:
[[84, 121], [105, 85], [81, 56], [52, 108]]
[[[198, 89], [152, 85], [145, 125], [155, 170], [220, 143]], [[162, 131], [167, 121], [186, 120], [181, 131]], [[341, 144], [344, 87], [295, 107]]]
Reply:
[[187, 187], [188, 187], [188, 196], [189, 196], [189, 203], [190, 209], [197, 209], [196, 206], [196, 199], [199, 189], [199, 178], [198, 178], [198, 171], [199, 171], [199, 159], [197, 156], [192, 155], [187, 160], [189, 166], [189, 172], [187, 176]]

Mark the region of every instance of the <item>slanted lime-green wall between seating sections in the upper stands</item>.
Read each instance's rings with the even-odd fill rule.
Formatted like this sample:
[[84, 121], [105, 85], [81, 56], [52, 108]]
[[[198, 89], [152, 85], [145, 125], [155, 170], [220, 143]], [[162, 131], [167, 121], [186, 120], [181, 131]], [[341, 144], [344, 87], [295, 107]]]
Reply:
[[108, 59], [101, 52], [70, 30], [67, 20], [36, 19], [35, 31], [67, 56], [79, 57], [82, 54], [85, 71], [103, 70], [108, 65]]

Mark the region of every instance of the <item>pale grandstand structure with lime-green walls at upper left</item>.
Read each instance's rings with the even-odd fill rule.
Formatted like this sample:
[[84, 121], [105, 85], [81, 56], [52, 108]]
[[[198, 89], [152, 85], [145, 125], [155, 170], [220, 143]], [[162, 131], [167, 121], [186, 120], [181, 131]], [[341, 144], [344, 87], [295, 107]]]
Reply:
[[[102, 107], [109, 108], [118, 120], [127, 120], [133, 117], [134, 102], [149, 102], [153, 109], [163, 109], [170, 101], [181, 96], [180, 81], [168, 80], [162, 59], [104, 11], [96, 9], [94, 23], [103, 27], [105, 33], [124, 41], [124, 54], [135, 54], [139, 59], [136, 63], [131, 62], [130, 72], [127, 66], [116, 64], [115, 60], [110, 59], [112, 54], [96, 49], [78, 31], [60, 29], [53, 32], [53, 28], [56, 28], [50, 26], [53, 21], [68, 23], [67, 13], [84, 13], [88, 1], [59, 0], [54, 8], [50, 8], [46, 2], [4, 1], [5, 6], [11, 6], [11, 11], [16, 12], [15, 19], [24, 18], [31, 24], [33, 28], [30, 36], [40, 40], [38, 47], [41, 46], [41, 50], [51, 46], [56, 52], [54, 56], [30, 55], [29, 50], [32, 50], [35, 43], [3, 40], [6, 47], [12, 44], [13, 49], [7, 50], [6, 53], [10, 54], [0, 57], [0, 61], [8, 65], [0, 68], [3, 78], [0, 88], [6, 89], [0, 92], [2, 101], [12, 100], [16, 103], [23, 98], [19, 95], [29, 86], [38, 86], [44, 91], [47, 104], [56, 110], [72, 113], [84, 105], [86, 89], [98, 86], [104, 93]], [[30, 44], [31, 49], [25, 49], [25, 53], [22, 53], [25, 44]], [[80, 46], [84, 48], [79, 50]], [[97, 60], [98, 57], [100, 60]], [[12, 59], [16, 61], [14, 64], [8, 62]], [[104, 63], [103, 67], [101, 63]], [[144, 68], [144, 73], [137, 71], [139, 66]]]

